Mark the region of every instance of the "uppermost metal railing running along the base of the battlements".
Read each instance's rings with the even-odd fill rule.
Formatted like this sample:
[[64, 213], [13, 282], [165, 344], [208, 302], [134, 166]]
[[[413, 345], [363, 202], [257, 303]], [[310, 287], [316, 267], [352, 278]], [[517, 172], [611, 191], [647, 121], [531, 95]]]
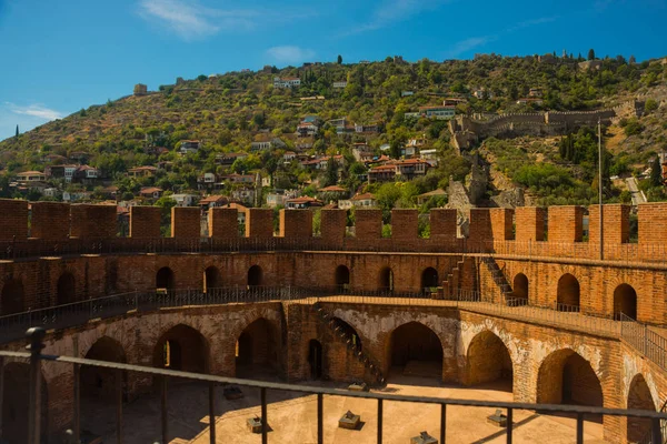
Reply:
[[[98, 240], [66, 239], [49, 241], [40, 239], [0, 242], [0, 260], [63, 256], [78, 254], [129, 254], [129, 253], [226, 253], [258, 251], [357, 251], [387, 253], [452, 253], [522, 258], [560, 258], [568, 260], [600, 260], [600, 248], [595, 242], [519, 242], [472, 241], [466, 238], [417, 238], [400, 240], [380, 238], [366, 240], [354, 236], [325, 239], [305, 238], [110, 238]], [[604, 261], [667, 266], [667, 245], [659, 244], [605, 244]]]

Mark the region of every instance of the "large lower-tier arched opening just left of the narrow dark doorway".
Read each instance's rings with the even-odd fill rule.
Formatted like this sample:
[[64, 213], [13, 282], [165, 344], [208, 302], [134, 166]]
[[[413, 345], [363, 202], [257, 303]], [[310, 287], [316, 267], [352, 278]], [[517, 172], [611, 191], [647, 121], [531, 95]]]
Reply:
[[260, 317], [248, 325], [236, 344], [237, 377], [272, 376], [278, 371], [278, 332]]

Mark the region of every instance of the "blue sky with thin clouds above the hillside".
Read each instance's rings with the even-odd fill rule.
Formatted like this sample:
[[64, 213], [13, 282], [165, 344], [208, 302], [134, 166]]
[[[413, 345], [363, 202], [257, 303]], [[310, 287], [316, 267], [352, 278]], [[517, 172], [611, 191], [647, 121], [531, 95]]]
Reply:
[[667, 0], [0, 0], [0, 140], [177, 77], [566, 49], [667, 56]]

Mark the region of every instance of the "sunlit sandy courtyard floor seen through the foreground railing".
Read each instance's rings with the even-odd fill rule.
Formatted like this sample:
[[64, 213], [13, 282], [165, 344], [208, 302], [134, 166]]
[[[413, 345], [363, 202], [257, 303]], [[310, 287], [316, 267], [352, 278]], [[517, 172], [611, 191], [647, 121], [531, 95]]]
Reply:
[[[340, 383], [310, 382], [305, 385], [340, 387]], [[379, 392], [475, 398], [487, 401], [511, 401], [507, 383], [477, 387], [460, 387], [441, 384], [435, 379], [404, 376], [394, 372], [387, 387]], [[217, 443], [261, 443], [261, 436], [248, 431], [247, 420], [260, 414], [259, 390], [243, 390], [245, 397], [227, 401], [222, 390], [216, 393]], [[317, 443], [317, 400], [298, 393], [268, 392], [268, 424], [270, 443]], [[172, 383], [169, 387], [169, 437], [172, 444], [208, 444], [208, 389], [196, 383]], [[360, 430], [338, 427], [338, 420], [348, 410], [361, 415]], [[377, 402], [345, 396], [326, 396], [323, 400], [323, 432], [326, 443], [376, 443]], [[488, 424], [486, 417], [492, 408], [447, 407], [448, 443], [504, 443], [504, 428]], [[103, 435], [104, 443], [116, 442], [116, 411], [113, 405], [83, 402], [83, 430]], [[571, 443], [575, 441], [576, 422], [573, 418], [545, 416], [531, 411], [515, 412], [515, 443]], [[440, 434], [440, 407], [415, 403], [385, 402], [385, 443], [409, 443], [409, 438], [421, 431], [435, 437]], [[586, 443], [604, 443], [603, 425], [586, 422]], [[160, 398], [150, 395], [123, 405], [123, 442], [155, 443], [160, 438]]]

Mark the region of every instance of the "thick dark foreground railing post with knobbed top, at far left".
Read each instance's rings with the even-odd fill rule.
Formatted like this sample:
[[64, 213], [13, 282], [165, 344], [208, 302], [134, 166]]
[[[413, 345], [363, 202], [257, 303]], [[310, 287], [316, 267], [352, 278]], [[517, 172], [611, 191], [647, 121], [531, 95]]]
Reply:
[[47, 332], [37, 326], [26, 333], [30, 344], [30, 386], [28, 390], [28, 443], [40, 444], [41, 425], [41, 350], [44, 347], [43, 339]]

